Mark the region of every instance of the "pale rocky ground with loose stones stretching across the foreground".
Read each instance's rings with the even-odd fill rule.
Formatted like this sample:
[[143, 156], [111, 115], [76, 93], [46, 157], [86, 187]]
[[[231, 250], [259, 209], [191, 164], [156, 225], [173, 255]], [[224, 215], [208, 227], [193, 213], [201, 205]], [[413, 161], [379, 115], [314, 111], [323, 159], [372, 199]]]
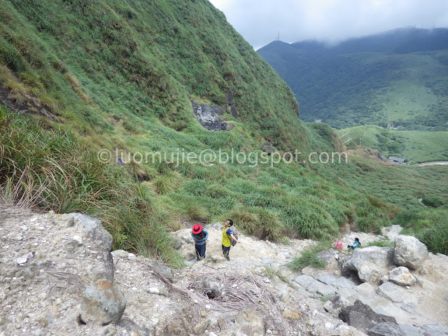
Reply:
[[[324, 251], [325, 269], [290, 271], [287, 263], [314, 246], [311, 240], [284, 245], [240, 235], [226, 261], [221, 225], [209, 225], [207, 258], [196, 262], [186, 228], [173, 236], [189, 267], [171, 269], [125, 251], [109, 253], [110, 235], [99, 221], [80, 214], [36, 214], [0, 205], [0, 229], [0, 336], [363, 336], [367, 330], [348, 325], [337, 310], [356, 299], [370, 304], [374, 314], [395, 316], [406, 335], [445, 335], [448, 324], [444, 255], [430, 255], [421, 274], [412, 271], [419, 283], [402, 289], [413, 291], [414, 299], [395, 302], [384, 297], [393, 295], [387, 288], [381, 296], [377, 285], [342, 276], [347, 251]], [[395, 233], [398, 228], [391, 228], [388, 235]], [[350, 232], [344, 243], [354, 235], [363, 242], [381, 239]], [[112, 297], [101, 303], [104, 308], [85, 303], [85, 288], [94, 284]], [[328, 300], [334, 293], [339, 296]], [[126, 301], [120, 321], [99, 322], [104, 311], [113, 315], [107, 318], [116, 317], [120, 295]]]

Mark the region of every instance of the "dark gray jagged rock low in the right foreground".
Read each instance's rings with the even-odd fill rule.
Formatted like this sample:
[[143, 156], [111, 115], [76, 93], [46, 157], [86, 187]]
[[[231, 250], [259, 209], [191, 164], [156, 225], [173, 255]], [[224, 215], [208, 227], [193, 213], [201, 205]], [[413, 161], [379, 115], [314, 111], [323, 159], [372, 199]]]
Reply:
[[363, 332], [367, 332], [378, 323], [397, 323], [395, 318], [375, 313], [372, 308], [360, 300], [356, 300], [352, 306], [342, 307], [341, 310], [339, 317], [342, 321]]

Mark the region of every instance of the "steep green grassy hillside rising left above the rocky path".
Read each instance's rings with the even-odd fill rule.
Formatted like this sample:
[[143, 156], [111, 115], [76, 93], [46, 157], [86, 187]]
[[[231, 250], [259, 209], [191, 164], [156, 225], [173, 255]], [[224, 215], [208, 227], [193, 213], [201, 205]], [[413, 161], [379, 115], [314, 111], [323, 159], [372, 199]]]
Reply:
[[[191, 223], [233, 218], [261, 238], [330, 239], [346, 224], [379, 230], [407, 204], [422, 208], [420, 188], [445, 202], [437, 168], [416, 172], [405, 197], [390, 190], [385, 202], [372, 195], [374, 180], [401, 179], [395, 167], [377, 168], [368, 153], [311, 163], [310, 153], [342, 152], [339, 138], [297, 118], [288, 86], [208, 1], [0, 5], [0, 200], [97, 216], [114, 248], [177, 266], [168, 232]], [[190, 99], [222, 106], [235, 127], [204, 129]], [[266, 141], [278, 152], [255, 162]], [[113, 153], [109, 162], [100, 149]], [[300, 154], [272, 162], [287, 151]], [[148, 152], [168, 159], [139, 162]], [[169, 159], [211, 152], [247, 160]]]

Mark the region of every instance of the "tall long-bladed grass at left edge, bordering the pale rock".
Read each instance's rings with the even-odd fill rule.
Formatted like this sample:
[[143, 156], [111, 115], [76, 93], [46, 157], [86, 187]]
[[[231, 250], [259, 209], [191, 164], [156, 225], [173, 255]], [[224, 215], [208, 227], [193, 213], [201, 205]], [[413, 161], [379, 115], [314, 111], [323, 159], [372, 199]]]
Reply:
[[124, 169], [99, 162], [72, 134], [42, 130], [5, 109], [0, 109], [0, 199], [95, 216], [113, 235], [113, 248], [182, 265], [164, 225], [171, 218], [154, 206], [146, 188]]

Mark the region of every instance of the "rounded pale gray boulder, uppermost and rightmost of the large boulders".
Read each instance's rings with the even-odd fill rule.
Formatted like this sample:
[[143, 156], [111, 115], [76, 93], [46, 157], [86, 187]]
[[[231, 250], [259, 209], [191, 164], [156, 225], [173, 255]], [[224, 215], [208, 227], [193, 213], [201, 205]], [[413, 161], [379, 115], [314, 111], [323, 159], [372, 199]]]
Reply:
[[419, 269], [428, 257], [428, 248], [419, 239], [405, 235], [395, 238], [393, 261], [396, 265]]

